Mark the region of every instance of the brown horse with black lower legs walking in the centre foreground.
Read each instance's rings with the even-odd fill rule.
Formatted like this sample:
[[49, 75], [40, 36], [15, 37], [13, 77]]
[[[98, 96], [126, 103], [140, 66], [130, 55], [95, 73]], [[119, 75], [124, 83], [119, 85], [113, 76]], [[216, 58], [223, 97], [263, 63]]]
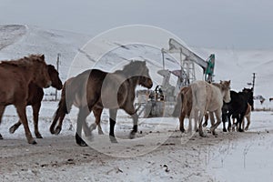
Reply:
[[[104, 108], [109, 108], [110, 121], [110, 141], [116, 143], [114, 133], [116, 125], [116, 112], [121, 108], [133, 117], [133, 130], [130, 138], [134, 138], [137, 132], [138, 116], [134, 107], [136, 86], [153, 86], [149, 76], [149, 70], [145, 61], [131, 61], [122, 70], [114, 73], [107, 73], [98, 69], [86, 70], [76, 77], [68, 79], [62, 90], [62, 98], [56, 110], [55, 118], [50, 126], [50, 132], [57, 134], [60, 126], [56, 122], [62, 120], [75, 105], [79, 108], [76, 125], [76, 143], [79, 146], [86, 146], [86, 142], [81, 138], [81, 130], [84, 128], [86, 136], [91, 135], [91, 130], [87, 129], [86, 116], [92, 111], [96, 116], [96, 123], [100, 122], [100, 116]], [[92, 128], [91, 128], [92, 129]]]

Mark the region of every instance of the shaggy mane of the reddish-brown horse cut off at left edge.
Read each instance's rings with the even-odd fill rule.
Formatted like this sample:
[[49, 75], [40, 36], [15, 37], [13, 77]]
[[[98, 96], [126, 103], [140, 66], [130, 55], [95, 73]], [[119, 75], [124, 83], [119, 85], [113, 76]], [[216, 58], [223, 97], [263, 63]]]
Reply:
[[16, 60], [9, 60], [9, 61], [0, 61], [0, 66], [29, 66], [33, 64], [34, 61], [44, 62], [44, 58], [42, 55], [30, 55], [25, 56], [23, 58], [19, 58]]

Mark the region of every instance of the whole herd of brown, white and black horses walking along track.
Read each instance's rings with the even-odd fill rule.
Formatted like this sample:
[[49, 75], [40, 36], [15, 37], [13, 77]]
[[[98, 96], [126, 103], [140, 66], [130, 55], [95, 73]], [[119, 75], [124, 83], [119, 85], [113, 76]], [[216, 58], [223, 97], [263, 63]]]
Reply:
[[[58, 90], [62, 89], [62, 94], [49, 129], [50, 132], [55, 135], [59, 134], [66, 114], [70, 112], [72, 106], [76, 106], [79, 109], [76, 122], [76, 144], [86, 146], [86, 142], [82, 139], [82, 130], [86, 136], [91, 136], [92, 131], [98, 126], [99, 134], [103, 134], [100, 119], [104, 108], [109, 109], [110, 141], [117, 142], [115, 125], [118, 109], [123, 109], [132, 116], [133, 129], [129, 137], [134, 138], [138, 125], [138, 116], [134, 106], [136, 86], [149, 89], [153, 86], [153, 81], [149, 76], [145, 61], [130, 61], [123, 69], [113, 73], [98, 69], [86, 70], [67, 79], [63, 85], [56, 68], [46, 65], [44, 55], [31, 55], [18, 60], [0, 62], [0, 84], [2, 84], [0, 122], [5, 106], [8, 105], [14, 105], [19, 116], [19, 121], [10, 127], [10, 133], [14, 133], [23, 124], [28, 143], [36, 144], [25, 114], [25, 107], [32, 106], [35, 136], [42, 138], [38, 130], [38, 116], [44, 96], [43, 88], [53, 86]], [[191, 132], [191, 119], [194, 118], [195, 130], [199, 132], [199, 136], [206, 136], [203, 126], [207, 126], [207, 120], [210, 118], [210, 132], [217, 135], [216, 128], [221, 122], [223, 122], [224, 131], [231, 131], [233, 126], [237, 126], [240, 132], [247, 130], [250, 124], [251, 108], [253, 109], [252, 89], [244, 88], [242, 92], [237, 93], [230, 90], [230, 81], [220, 81], [220, 83], [196, 81], [181, 88], [173, 116], [179, 117], [181, 132], [185, 132], [184, 119], [186, 116], [189, 119], [187, 131]], [[87, 126], [86, 117], [92, 111], [96, 121], [91, 126]], [[204, 116], [205, 122], [202, 123]], [[245, 116], [249, 119], [246, 127], [243, 122]], [[231, 125], [230, 117], [233, 118], [233, 125]], [[226, 122], [228, 122], [227, 129]], [[1, 134], [0, 138], [3, 139]]]

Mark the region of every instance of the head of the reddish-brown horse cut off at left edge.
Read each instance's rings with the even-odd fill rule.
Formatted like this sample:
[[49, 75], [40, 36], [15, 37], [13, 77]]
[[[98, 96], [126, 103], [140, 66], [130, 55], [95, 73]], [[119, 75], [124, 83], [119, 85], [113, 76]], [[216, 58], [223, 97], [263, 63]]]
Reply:
[[47, 66], [45, 64], [45, 56], [42, 55], [32, 55], [27, 57], [28, 60], [32, 61], [34, 69], [34, 79], [33, 82], [40, 87], [51, 86], [50, 76], [48, 75]]

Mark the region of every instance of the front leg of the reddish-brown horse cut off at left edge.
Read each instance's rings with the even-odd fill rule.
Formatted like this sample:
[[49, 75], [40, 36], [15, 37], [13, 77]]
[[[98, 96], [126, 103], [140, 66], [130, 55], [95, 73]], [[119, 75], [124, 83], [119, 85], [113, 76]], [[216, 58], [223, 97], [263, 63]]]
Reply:
[[26, 114], [25, 114], [25, 105], [23, 105], [23, 104], [15, 105], [15, 107], [16, 107], [17, 114], [18, 114], [23, 126], [25, 127], [25, 137], [27, 139], [27, 142], [29, 144], [37, 144], [35, 139], [31, 135], [31, 132], [28, 127], [28, 122], [27, 122], [27, 118], [26, 118]]

